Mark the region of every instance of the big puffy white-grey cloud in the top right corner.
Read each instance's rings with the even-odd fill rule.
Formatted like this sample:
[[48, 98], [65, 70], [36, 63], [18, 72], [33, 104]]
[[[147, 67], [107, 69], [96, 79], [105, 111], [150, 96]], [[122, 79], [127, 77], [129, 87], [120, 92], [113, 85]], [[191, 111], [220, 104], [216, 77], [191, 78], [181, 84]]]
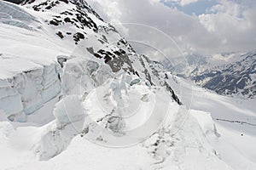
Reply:
[[249, 50], [256, 48], [256, 6], [249, 3], [221, 1], [198, 16], [208, 32], [219, 37], [222, 51]]

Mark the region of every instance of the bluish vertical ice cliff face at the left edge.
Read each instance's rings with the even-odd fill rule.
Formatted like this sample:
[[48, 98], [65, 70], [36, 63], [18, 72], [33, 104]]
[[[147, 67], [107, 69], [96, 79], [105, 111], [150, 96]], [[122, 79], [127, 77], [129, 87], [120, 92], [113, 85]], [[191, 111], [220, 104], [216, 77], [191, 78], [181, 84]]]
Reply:
[[[2, 60], [4, 62], [4, 60]], [[8, 61], [7, 61], [8, 62]], [[10, 121], [25, 122], [26, 116], [61, 92], [59, 65], [37, 65], [36, 68], [0, 77], [0, 108]]]

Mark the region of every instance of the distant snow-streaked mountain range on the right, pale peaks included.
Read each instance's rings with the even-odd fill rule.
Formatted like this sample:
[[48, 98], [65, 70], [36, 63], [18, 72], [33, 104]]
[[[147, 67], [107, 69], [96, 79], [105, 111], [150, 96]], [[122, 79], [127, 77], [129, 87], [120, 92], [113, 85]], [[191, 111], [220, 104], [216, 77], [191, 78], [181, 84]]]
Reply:
[[163, 63], [177, 76], [190, 79], [217, 94], [255, 98], [255, 50], [209, 56], [192, 54], [186, 56], [186, 61], [174, 66]]

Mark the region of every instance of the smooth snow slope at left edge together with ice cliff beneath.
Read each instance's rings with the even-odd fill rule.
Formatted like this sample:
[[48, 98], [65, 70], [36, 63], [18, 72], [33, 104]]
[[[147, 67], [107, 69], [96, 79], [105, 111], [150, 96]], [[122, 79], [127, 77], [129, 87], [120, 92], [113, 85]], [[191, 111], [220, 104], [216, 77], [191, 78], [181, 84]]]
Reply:
[[[32, 16], [29, 9], [0, 3], [1, 112], [5, 114], [3, 119], [26, 122], [27, 115], [60, 94], [61, 67], [56, 58], [70, 52], [44, 35], [44, 30], [38, 28], [40, 19]], [[8, 20], [33, 29], [4, 24]]]

